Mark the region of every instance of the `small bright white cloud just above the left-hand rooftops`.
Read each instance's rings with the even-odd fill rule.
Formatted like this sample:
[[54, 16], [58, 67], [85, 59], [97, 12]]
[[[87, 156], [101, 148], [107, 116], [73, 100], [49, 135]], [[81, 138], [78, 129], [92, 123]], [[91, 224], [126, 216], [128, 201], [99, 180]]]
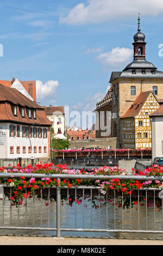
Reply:
[[52, 96], [55, 93], [55, 90], [59, 86], [58, 81], [49, 80], [44, 84], [40, 80], [36, 80], [36, 97], [37, 99], [43, 99], [47, 96]]

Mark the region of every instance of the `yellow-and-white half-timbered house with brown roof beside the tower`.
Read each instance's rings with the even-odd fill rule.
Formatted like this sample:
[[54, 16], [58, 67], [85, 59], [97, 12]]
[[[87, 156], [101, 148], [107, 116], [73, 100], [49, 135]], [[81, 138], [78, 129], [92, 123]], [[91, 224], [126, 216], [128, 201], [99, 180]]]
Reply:
[[122, 148], [148, 149], [152, 147], [149, 115], [159, 108], [155, 95], [142, 92], [121, 117]]

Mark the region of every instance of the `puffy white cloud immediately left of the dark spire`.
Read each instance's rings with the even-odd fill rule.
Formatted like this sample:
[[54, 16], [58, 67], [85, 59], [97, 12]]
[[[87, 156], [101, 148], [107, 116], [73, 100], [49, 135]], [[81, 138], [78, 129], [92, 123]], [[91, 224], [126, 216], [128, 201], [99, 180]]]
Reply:
[[100, 53], [96, 59], [101, 60], [105, 66], [118, 67], [129, 62], [133, 56], [133, 50], [125, 47], [112, 48], [110, 52]]

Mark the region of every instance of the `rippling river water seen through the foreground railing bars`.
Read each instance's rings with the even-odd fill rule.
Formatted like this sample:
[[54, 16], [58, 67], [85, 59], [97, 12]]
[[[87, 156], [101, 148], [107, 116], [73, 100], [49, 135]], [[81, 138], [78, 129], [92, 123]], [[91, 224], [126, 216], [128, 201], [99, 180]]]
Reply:
[[[46, 205], [46, 201], [42, 204], [40, 200], [27, 199], [27, 205], [20, 205], [19, 208], [15, 206], [11, 207], [8, 199], [4, 202], [4, 214], [2, 200], [0, 201], [0, 226], [2, 225], [9, 227], [11, 225], [15, 227], [51, 227], [56, 228], [56, 203], [51, 202]], [[27, 206], [27, 212], [26, 212]], [[106, 220], [106, 207], [108, 209], [108, 221]], [[41, 211], [42, 208], [42, 211]], [[68, 209], [68, 211], [67, 211]], [[114, 216], [115, 209], [115, 216]], [[76, 210], [76, 215], [74, 214]], [[83, 217], [84, 210], [84, 217]], [[19, 212], [19, 214], [18, 214]], [[41, 214], [42, 212], [42, 214]], [[122, 229], [122, 208], [118, 208], [112, 205], [112, 202], [108, 202], [108, 205], [103, 205], [101, 203], [101, 208], [91, 208], [89, 199], [84, 200], [78, 204], [72, 204], [72, 206], [67, 207], [67, 202], [63, 202], [61, 205], [61, 228], [91, 228], [91, 212], [92, 212], [92, 228], [106, 229], [106, 224], [108, 222], [108, 229]], [[42, 217], [41, 217], [42, 215]], [[11, 216], [11, 219], [10, 219]], [[19, 217], [18, 217], [19, 216]], [[138, 222], [139, 216], [139, 222]], [[154, 217], [155, 216], [155, 217]], [[4, 217], [4, 223], [2, 221]], [[34, 218], [33, 218], [34, 217]], [[115, 217], [115, 218], [114, 218]], [[41, 222], [42, 220], [42, 222]], [[115, 221], [116, 220], [116, 221]], [[154, 211], [153, 207], [147, 209], [147, 225], [148, 230], [154, 230], [154, 220], [155, 220], [155, 230], [162, 230], [162, 212]], [[131, 224], [131, 225], [130, 225]], [[140, 230], [146, 230], [146, 208], [140, 206], [139, 211], [137, 205], [131, 209], [123, 210], [123, 229], [135, 229], [137, 230], [139, 224]], [[116, 225], [116, 226], [115, 226]], [[7, 230], [0, 229], [0, 234], [15, 234], [15, 235], [43, 235], [43, 236], [55, 236], [56, 231], [49, 230]], [[141, 233], [116, 233], [116, 232], [77, 232], [77, 231], [62, 231], [62, 236], [89, 236], [89, 237], [115, 237], [115, 238], [148, 238], [148, 239], [163, 239], [163, 234], [141, 234]]]

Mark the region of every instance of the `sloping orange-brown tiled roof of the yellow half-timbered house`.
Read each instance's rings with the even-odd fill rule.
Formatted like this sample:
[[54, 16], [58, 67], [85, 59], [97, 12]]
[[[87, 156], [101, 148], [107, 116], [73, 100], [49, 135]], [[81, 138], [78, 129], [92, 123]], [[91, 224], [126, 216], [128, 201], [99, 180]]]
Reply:
[[150, 93], [152, 93], [151, 90], [148, 92], [141, 92], [121, 118], [135, 117], [140, 112], [140, 109], [144, 105]]

